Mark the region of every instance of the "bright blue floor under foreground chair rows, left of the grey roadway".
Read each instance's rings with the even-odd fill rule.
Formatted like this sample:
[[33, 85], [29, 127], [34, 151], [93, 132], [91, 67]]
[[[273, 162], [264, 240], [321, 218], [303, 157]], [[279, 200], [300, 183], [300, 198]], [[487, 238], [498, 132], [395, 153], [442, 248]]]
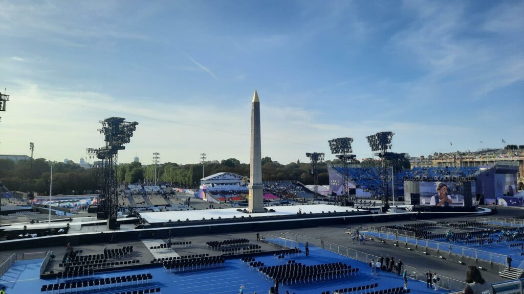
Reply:
[[[280, 293], [289, 290], [290, 293], [320, 294], [323, 291], [332, 292], [335, 289], [348, 288], [354, 286], [368, 285], [375, 282], [378, 288], [375, 290], [388, 289], [403, 286], [402, 277], [381, 272], [380, 276], [371, 275], [369, 266], [363, 262], [355, 261], [329, 251], [322, 250], [318, 247], [310, 246], [310, 256], [306, 257], [304, 253], [298, 256], [289, 256], [283, 259], [277, 259], [275, 256], [255, 257], [256, 261], [263, 262], [265, 265], [285, 264], [288, 260], [294, 259], [297, 263], [305, 265], [315, 265], [324, 263], [343, 262], [351, 265], [352, 268], [360, 268], [361, 273], [354, 277], [343, 277], [327, 281], [310, 282], [299, 285], [281, 285]], [[56, 280], [39, 279], [39, 270], [42, 259], [33, 259], [29, 261], [16, 262], [8, 272], [0, 278], [0, 284], [7, 287], [9, 294], [32, 294], [40, 293], [42, 285], [52, 284]], [[150, 287], [161, 287], [161, 293], [170, 294], [225, 294], [238, 293], [240, 286], [244, 286], [245, 294], [254, 292], [266, 294], [273, 282], [266, 279], [257, 270], [243, 264], [239, 259], [228, 259], [224, 267], [215, 269], [196, 270], [194, 272], [166, 273], [163, 268], [150, 268], [139, 270], [126, 270], [106, 274], [97, 274], [95, 278], [116, 277], [122, 275], [134, 275], [150, 273], [153, 276]], [[139, 289], [139, 287], [135, 287]], [[446, 290], [434, 291], [427, 289], [424, 282], [410, 279], [408, 288], [411, 293], [445, 293]], [[131, 288], [127, 288], [130, 290]], [[76, 291], [78, 294], [108, 294], [117, 292], [117, 288], [112, 290], [90, 290]], [[68, 291], [69, 293], [69, 291]]]

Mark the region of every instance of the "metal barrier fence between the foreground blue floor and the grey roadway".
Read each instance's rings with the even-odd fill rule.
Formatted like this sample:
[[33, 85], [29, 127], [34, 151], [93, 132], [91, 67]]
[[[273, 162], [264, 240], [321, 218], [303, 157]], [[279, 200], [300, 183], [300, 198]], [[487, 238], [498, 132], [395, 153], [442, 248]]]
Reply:
[[[288, 248], [294, 248], [294, 247], [297, 247], [299, 244], [305, 244], [305, 242], [308, 242], [310, 247], [311, 246], [320, 247], [324, 250], [328, 250], [333, 253], [355, 259], [359, 262], [364, 262], [366, 264], [372, 261], [372, 259], [375, 259], [376, 261], [379, 258], [376, 255], [354, 250], [352, 248], [348, 248], [342, 245], [331, 243], [329, 241], [316, 239], [316, 238], [310, 238], [308, 236], [303, 236], [303, 235], [294, 234], [290, 232], [280, 233], [279, 236], [264, 234], [264, 237], [265, 237], [265, 240], [268, 242], [275, 241], [274, 243], [279, 244], [281, 246], [286, 246]], [[402, 266], [405, 269], [407, 269], [407, 273], [410, 278], [420, 280], [420, 281], [426, 280], [425, 272], [421, 272], [416, 267], [412, 267], [406, 264], [403, 264]], [[450, 290], [450, 291], [455, 291], [455, 290], [462, 290], [467, 285], [463, 281], [452, 279], [446, 276], [439, 275], [439, 277], [440, 277], [439, 288], [443, 288], [443, 289]]]

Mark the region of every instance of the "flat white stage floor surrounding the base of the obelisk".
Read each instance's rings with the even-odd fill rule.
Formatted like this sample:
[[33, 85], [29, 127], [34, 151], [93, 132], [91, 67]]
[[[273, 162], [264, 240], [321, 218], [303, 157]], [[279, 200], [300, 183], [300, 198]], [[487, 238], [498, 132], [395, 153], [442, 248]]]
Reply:
[[209, 220], [211, 218], [218, 219], [232, 219], [236, 218], [247, 218], [249, 215], [252, 217], [268, 217], [268, 216], [290, 216], [295, 215], [299, 212], [299, 209], [304, 214], [321, 213], [322, 211], [360, 211], [360, 209], [352, 207], [341, 207], [326, 204], [315, 204], [315, 205], [291, 205], [291, 206], [271, 206], [266, 207], [267, 209], [274, 209], [275, 212], [261, 212], [261, 213], [244, 213], [236, 211], [237, 208], [225, 208], [225, 209], [202, 209], [202, 210], [182, 210], [182, 211], [162, 211], [162, 212], [140, 212], [140, 216], [147, 220], [149, 223], [157, 222], [168, 222], [169, 220], [176, 222], [178, 220], [185, 221], [186, 219], [202, 220], [205, 218]]

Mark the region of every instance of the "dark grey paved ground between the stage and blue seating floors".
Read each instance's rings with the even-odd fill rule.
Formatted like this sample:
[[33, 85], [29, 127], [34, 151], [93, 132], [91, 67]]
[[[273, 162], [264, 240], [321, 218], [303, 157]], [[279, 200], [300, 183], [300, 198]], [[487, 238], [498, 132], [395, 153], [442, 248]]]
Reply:
[[[522, 209], [518, 208], [507, 208], [507, 207], [497, 207], [498, 214], [495, 216], [498, 217], [514, 217], [522, 215], [524, 212]], [[456, 221], [456, 220], [466, 220], [467, 218], [450, 218], [450, 219], [435, 219], [435, 220], [449, 220], [449, 221]], [[411, 223], [406, 221], [400, 221], [400, 222], [388, 222], [387, 224], [395, 224], [395, 223]], [[385, 225], [386, 223], [371, 223], [373, 225]], [[384, 243], [378, 243], [378, 242], [366, 242], [365, 245], [359, 245], [359, 244], [352, 244], [350, 236], [347, 234], [344, 234], [343, 229], [351, 227], [351, 225], [359, 225], [359, 224], [347, 224], [347, 225], [334, 225], [334, 226], [328, 226], [328, 227], [312, 227], [312, 228], [305, 228], [305, 229], [297, 229], [297, 230], [288, 230], [289, 232], [309, 236], [311, 238], [318, 238], [323, 239], [332, 243], [344, 245], [350, 248], [353, 248], [355, 250], [359, 250], [365, 253], [374, 254], [374, 255], [384, 255], [384, 256], [395, 256], [397, 259], [401, 258], [402, 262], [406, 265], [416, 267], [421, 270], [427, 270], [431, 269], [432, 271], [437, 271], [438, 273], [454, 277], [456, 279], [463, 279], [465, 277], [466, 267], [464, 265], [460, 265], [457, 262], [459, 260], [464, 261], [466, 264], [476, 264], [481, 265], [485, 268], [487, 268], [486, 271], [483, 272], [483, 276], [488, 279], [491, 282], [497, 282], [497, 281], [503, 281], [504, 278], [501, 278], [498, 276], [499, 268], [498, 266], [490, 265], [487, 262], [482, 261], [474, 261], [474, 259], [461, 259], [459, 256], [449, 256], [444, 255], [446, 257], [446, 260], [439, 259], [438, 257], [433, 256], [426, 256], [422, 253], [408, 251], [404, 248], [398, 248], [394, 247], [391, 244], [384, 244]], [[279, 235], [280, 233], [283, 233], [283, 231], [268, 231], [268, 232], [261, 232], [266, 234], [273, 234], [273, 235]], [[187, 247], [187, 248], [181, 248], [180, 251], [177, 250], [177, 253], [179, 255], [187, 255], [187, 254], [200, 254], [200, 253], [214, 253], [209, 248], [206, 247], [205, 242], [207, 241], [219, 241], [219, 240], [225, 240], [225, 239], [236, 239], [236, 238], [248, 238], [252, 240], [252, 243], [259, 244], [257, 241], [255, 241], [255, 234], [256, 232], [242, 232], [242, 233], [231, 233], [231, 234], [209, 234], [209, 235], [200, 235], [200, 236], [190, 236], [188, 238], [179, 238], [179, 239], [173, 239], [172, 241], [192, 241], [193, 246]], [[108, 246], [108, 248], [114, 248], [114, 247], [121, 247], [124, 245], [130, 245], [133, 244], [135, 246], [135, 251], [139, 252], [137, 254], [137, 258], [140, 259], [140, 263], [142, 262], [149, 262], [153, 256], [149, 252], [149, 249], [144, 246], [144, 244], [140, 241], [137, 242], [127, 242], [122, 243], [119, 242], [117, 244], [96, 244], [96, 245], [87, 245], [87, 246], [80, 246], [84, 250], [84, 254], [87, 254], [87, 252], [101, 252], [103, 250], [104, 246]], [[271, 250], [272, 246], [263, 244], [260, 242], [261, 245], [263, 245], [263, 250]], [[44, 245], [44, 244], [42, 244]], [[269, 246], [269, 247], [267, 247]], [[22, 253], [28, 253], [28, 252], [38, 252], [38, 251], [46, 251], [46, 250], [53, 250], [57, 256], [61, 257], [63, 256], [65, 252], [65, 247], [46, 247], [42, 246], [41, 248], [33, 248], [31, 250], [10, 250], [10, 251], [3, 251], [0, 252], [0, 261], [4, 261], [7, 257], [9, 257], [13, 253], [17, 253], [19, 256], [21, 256]], [[211, 252], [210, 252], [211, 251]], [[216, 254], [216, 253], [215, 253]], [[54, 267], [54, 264], [52, 265]]]

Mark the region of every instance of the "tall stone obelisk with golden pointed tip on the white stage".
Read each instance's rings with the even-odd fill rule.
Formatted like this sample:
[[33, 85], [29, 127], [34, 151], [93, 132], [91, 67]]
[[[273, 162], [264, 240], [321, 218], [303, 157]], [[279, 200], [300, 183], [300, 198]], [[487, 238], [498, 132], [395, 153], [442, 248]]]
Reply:
[[260, 151], [260, 100], [255, 90], [251, 101], [251, 155], [249, 161], [249, 212], [264, 212], [262, 152]]

